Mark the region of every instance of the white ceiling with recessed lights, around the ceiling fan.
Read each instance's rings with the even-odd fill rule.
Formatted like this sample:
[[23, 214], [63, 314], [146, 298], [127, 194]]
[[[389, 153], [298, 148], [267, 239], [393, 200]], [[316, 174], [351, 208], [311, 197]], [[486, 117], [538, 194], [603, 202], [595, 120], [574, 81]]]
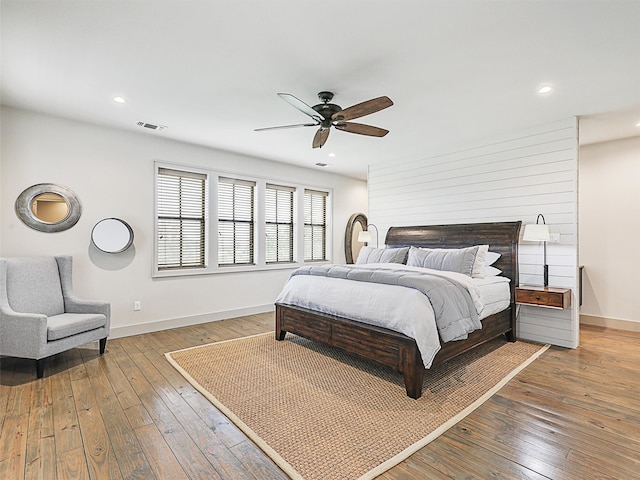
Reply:
[[[1, 21], [4, 105], [359, 178], [574, 115], [582, 143], [640, 135], [640, 0], [2, 0]], [[389, 96], [357, 121], [390, 133], [253, 131], [308, 120], [277, 92], [321, 90]]]

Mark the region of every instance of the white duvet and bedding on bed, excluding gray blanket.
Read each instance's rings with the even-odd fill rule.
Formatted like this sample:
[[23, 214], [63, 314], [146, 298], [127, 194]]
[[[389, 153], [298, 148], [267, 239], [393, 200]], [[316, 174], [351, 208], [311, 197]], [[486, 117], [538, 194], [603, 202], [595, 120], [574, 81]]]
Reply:
[[[371, 269], [406, 269], [448, 277], [469, 291], [480, 318], [509, 305], [509, 279], [472, 279], [456, 272], [443, 272], [397, 263], [358, 265]], [[483, 296], [483, 292], [488, 292]], [[489, 301], [485, 303], [484, 298]], [[426, 368], [440, 350], [433, 308], [429, 299], [413, 288], [358, 282], [316, 275], [294, 275], [285, 284], [276, 303], [296, 305], [388, 328], [415, 339]]]

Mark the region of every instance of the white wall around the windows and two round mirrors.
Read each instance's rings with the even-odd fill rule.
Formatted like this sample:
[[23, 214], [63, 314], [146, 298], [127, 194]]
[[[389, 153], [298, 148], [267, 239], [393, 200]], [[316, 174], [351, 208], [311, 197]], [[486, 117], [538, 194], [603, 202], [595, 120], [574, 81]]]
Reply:
[[[72, 255], [81, 298], [111, 302], [112, 336], [268, 311], [291, 270], [152, 279], [154, 161], [213, 167], [333, 189], [333, 261], [344, 262], [349, 216], [366, 211], [366, 183], [326, 171], [133, 133], [2, 109], [0, 255]], [[36, 183], [59, 183], [82, 203], [70, 230], [42, 233], [14, 213], [14, 202]], [[119, 255], [98, 251], [91, 229], [119, 217], [134, 230], [134, 247]], [[142, 310], [133, 311], [133, 301]], [[185, 318], [189, 317], [189, 318]]]

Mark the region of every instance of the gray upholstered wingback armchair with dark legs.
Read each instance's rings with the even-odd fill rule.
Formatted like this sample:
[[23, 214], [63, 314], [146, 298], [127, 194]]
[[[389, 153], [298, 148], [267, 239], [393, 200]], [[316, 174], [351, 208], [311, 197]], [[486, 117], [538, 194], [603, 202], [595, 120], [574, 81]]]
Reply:
[[0, 355], [47, 357], [109, 336], [111, 306], [73, 296], [71, 257], [0, 258]]

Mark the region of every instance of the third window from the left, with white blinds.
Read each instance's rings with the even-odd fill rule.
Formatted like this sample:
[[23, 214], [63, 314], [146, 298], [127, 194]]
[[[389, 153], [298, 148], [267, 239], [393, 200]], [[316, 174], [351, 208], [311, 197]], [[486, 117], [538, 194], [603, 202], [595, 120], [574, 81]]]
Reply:
[[293, 262], [292, 187], [267, 184], [265, 191], [265, 260]]

